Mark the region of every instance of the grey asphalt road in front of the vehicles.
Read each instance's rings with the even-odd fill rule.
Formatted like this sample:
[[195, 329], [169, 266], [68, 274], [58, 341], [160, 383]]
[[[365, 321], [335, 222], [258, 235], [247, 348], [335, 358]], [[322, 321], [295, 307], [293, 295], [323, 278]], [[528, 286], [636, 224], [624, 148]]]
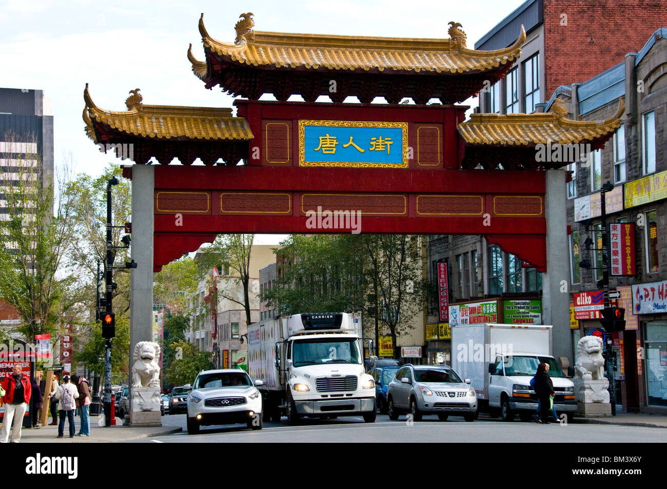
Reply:
[[263, 429], [253, 431], [244, 425], [205, 426], [197, 435], [185, 430], [185, 414], [163, 416], [165, 426], [181, 426], [182, 433], [133, 440], [134, 443], [219, 443], [219, 442], [564, 442], [564, 443], [636, 443], [667, 442], [665, 428], [639, 428], [602, 424], [540, 425], [534, 422], [502, 422], [480, 418], [465, 422], [451, 416], [447, 421], [437, 416], [424, 416], [420, 422], [409, 423], [406, 416], [391, 421], [378, 415], [374, 423], [362, 418], [304, 419], [299, 426], [282, 422], [264, 423]]

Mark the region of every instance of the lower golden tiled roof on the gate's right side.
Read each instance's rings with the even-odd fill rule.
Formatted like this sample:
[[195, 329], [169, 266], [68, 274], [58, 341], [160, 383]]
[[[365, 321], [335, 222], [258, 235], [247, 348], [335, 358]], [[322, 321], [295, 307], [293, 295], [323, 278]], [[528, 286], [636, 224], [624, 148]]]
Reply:
[[618, 111], [604, 121], [572, 121], [566, 119], [559, 99], [553, 112], [498, 115], [474, 113], [470, 120], [458, 125], [467, 145], [533, 146], [538, 143], [574, 144], [607, 137], [621, 125], [625, 111], [619, 98]]

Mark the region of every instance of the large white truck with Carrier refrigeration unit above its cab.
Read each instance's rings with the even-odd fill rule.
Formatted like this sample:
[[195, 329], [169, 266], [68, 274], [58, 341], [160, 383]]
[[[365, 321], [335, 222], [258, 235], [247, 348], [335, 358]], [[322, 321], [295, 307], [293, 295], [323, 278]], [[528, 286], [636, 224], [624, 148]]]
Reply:
[[364, 370], [358, 316], [348, 313], [293, 314], [248, 327], [248, 371], [261, 379], [265, 420], [285, 414], [376, 419], [375, 384]]

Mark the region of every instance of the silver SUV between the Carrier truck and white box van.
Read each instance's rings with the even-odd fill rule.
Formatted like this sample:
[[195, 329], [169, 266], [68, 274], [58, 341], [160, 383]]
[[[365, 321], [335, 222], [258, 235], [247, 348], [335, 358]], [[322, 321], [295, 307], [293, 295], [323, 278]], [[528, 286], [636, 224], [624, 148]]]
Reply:
[[387, 414], [390, 420], [398, 420], [404, 412], [414, 421], [424, 414], [438, 414], [443, 421], [450, 415], [474, 421], [477, 395], [468, 384], [470, 379], [464, 382], [448, 366], [407, 364], [389, 384]]

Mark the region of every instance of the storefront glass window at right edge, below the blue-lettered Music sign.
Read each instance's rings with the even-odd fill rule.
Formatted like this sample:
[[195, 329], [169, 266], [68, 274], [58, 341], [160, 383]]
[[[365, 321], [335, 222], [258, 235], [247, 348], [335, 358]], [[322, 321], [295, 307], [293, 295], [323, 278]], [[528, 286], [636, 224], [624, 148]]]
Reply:
[[646, 323], [646, 404], [667, 406], [667, 322]]

